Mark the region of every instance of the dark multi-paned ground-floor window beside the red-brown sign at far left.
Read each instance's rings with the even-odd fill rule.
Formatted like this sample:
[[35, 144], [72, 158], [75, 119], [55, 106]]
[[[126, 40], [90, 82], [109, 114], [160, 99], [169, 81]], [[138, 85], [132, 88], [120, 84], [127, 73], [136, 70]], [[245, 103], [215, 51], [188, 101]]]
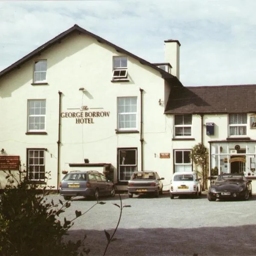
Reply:
[[27, 148], [27, 170], [29, 180], [44, 181], [44, 153], [44, 148]]

